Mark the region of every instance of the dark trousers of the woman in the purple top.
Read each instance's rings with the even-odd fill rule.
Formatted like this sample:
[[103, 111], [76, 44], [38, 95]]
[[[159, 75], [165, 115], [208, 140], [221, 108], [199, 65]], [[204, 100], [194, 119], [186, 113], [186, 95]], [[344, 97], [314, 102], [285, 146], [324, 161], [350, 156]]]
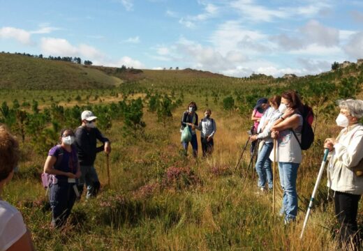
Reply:
[[75, 184], [67, 181], [58, 181], [57, 184], [50, 186], [49, 200], [53, 227], [62, 227], [71, 214], [76, 197], [73, 185]]

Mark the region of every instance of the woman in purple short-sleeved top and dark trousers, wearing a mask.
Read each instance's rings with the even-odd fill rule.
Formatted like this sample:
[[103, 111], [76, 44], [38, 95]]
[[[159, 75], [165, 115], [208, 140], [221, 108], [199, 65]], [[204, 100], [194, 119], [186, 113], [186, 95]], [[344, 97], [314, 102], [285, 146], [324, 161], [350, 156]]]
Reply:
[[52, 174], [49, 199], [55, 228], [63, 227], [71, 214], [78, 192], [76, 178], [81, 176], [73, 130], [61, 130], [60, 140], [60, 145], [50, 149], [44, 165], [44, 172]]

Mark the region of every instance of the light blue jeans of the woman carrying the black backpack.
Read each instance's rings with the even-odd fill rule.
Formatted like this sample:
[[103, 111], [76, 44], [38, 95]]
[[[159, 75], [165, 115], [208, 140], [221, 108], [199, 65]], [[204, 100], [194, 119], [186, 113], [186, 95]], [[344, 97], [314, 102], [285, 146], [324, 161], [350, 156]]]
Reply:
[[281, 214], [286, 220], [295, 220], [297, 215], [296, 178], [299, 163], [279, 162], [280, 183], [283, 190]]

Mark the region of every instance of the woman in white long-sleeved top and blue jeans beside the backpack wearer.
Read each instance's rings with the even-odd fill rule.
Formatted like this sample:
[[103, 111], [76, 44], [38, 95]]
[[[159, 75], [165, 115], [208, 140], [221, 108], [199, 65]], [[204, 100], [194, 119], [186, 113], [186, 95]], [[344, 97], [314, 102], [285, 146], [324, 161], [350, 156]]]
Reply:
[[[274, 148], [274, 141], [271, 137], [271, 127], [274, 125], [275, 121], [281, 116], [279, 112], [279, 105], [281, 102], [281, 96], [273, 96], [269, 99], [270, 107], [267, 108], [260, 121], [260, 133], [257, 135], [251, 135], [251, 142], [255, 142], [257, 139], [262, 140], [261, 150], [258, 152], [258, 158], [256, 161], [255, 169], [258, 174], [258, 189], [265, 192], [266, 185], [268, 189], [272, 190], [272, 169], [271, 160], [269, 155]], [[262, 125], [263, 124], [263, 125]]]

